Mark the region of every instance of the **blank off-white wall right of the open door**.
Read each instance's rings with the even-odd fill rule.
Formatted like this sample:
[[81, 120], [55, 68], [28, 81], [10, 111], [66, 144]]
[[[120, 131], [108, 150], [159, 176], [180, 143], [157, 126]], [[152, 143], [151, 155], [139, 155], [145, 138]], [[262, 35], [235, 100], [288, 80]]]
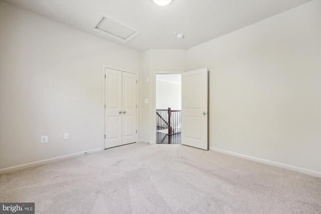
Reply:
[[321, 175], [320, 38], [313, 1], [188, 50], [210, 70], [211, 149]]

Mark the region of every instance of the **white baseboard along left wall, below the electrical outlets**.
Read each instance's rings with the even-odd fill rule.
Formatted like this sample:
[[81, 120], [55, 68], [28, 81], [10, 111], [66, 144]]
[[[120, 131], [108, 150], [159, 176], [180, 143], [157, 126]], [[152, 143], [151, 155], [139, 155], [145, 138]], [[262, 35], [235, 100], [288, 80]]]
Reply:
[[25, 164], [21, 164], [21, 165], [18, 165], [18, 166], [12, 166], [12, 167], [8, 167], [8, 168], [3, 168], [3, 169], [0, 169], [0, 174], [7, 173], [7, 172], [12, 172], [12, 171], [17, 171], [17, 170], [21, 170], [21, 169], [24, 169], [24, 168], [29, 168], [29, 167], [32, 167], [32, 166], [38, 166], [38, 165], [54, 162], [54, 161], [57, 161], [57, 160], [63, 160], [63, 159], [71, 158], [71, 157], [77, 157], [77, 156], [81, 156], [81, 155], [85, 155], [85, 154], [90, 154], [90, 153], [94, 153], [94, 152], [98, 152], [98, 151], [103, 151], [103, 150], [104, 150], [104, 148], [91, 149], [91, 150], [88, 150], [88, 151], [82, 151], [82, 152], [78, 152], [78, 153], [74, 153], [74, 154], [68, 154], [68, 155], [49, 158], [49, 159], [45, 159], [45, 160], [39, 160], [39, 161], [31, 162], [31, 163], [25, 163]]

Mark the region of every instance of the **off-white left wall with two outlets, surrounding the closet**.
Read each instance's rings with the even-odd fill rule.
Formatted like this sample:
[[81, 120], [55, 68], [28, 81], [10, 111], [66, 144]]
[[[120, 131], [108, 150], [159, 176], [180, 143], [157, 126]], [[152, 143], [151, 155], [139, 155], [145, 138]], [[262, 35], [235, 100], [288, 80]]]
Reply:
[[0, 169], [101, 149], [103, 64], [140, 72], [142, 54], [4, 2], [0, 46]]

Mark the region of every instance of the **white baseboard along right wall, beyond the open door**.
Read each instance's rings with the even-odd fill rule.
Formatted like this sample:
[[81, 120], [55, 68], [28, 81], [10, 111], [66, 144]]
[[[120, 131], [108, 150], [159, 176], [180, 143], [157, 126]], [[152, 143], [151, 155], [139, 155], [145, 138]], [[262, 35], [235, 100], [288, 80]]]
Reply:
[[232, 155], [232, 156], [236, 156], [236, 157], [241, 157], [241, 158], [245, 158], [248, 160], [253, 160], [256, 162], [260, 162], [260, 163], [265, 163], [268, 165], [272, 165], [272, 166], [277, 166], [280, 168], [284, 168], [284, 169], [289, 169], [292, 171], [297, 171], [297, 172], [301, 172], [304, 174], [309, 174], [309, 175], [313, 175], [316, 177], [321, 177], [321, 172], [318, 171], [313, 171], [313, 170], [309, 170], [309, 169], [305, 169], [305, 168], [300, 168], [300, 167], [296, 167], [296, 166], [291, 166], [291, 165], [287, 165], [287, 164], [283, 164], [283, 163], [279, 163], [279, 162], [274, 162], [271, 160], [265, 160], [265, 159], [261, 159], [261, 158], [257, 158], [257, 157], [252, 157], [252, 156], [248, 156], [248, 155], [244, 155], [244, 154], [239, 154], [239, 153], [235, 153], [235, 152], [231, 152], [231, 151], [227, 151], [227, 150], [223, 150], [223, 149], [217, 149], [217, 148], [213, 148], [213, 147], [209, 147], [209, 149], [211, 151], [217, 151], [220, 153], [224, 153], [224, 154], [228, 154], [228, 155]]

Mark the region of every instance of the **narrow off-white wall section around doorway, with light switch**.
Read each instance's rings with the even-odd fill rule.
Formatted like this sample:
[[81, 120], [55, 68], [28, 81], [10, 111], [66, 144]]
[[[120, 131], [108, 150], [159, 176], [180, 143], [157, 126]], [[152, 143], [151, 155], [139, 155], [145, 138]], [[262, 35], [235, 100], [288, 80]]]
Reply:
[[[160, 72], [184, 72], [187, 67], [186, 50], [148, 50], [142, 54], [143, 63], [143, 94], [142, 99], [148, 99], [148, 104], [141, 105], [142, 127], [139, 138], [143, 141], [153, 142], [155, 133], [153, 132], [155, 123], [155, 83], [154, 74]], [[148, 77], [149, 82], [146, 82]]]

